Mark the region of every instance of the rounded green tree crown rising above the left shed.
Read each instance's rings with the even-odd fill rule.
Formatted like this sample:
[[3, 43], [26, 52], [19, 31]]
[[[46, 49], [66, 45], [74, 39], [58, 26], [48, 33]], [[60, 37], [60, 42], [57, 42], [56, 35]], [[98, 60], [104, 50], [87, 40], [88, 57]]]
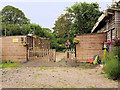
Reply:
[[4, 24], [28, 24], [30, 20], [25, 17], [25, 14], [13, 6], [5, 6], [2, 11], [2, 23]]

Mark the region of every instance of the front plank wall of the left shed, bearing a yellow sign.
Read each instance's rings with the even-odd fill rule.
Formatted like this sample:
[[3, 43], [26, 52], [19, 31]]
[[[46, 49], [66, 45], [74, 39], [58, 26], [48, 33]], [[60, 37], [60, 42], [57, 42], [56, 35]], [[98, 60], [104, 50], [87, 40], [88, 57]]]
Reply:
[[[27, 48], [22, 45], [21, 38], [26, 36], [6, 36], [2, 37], [2, 60], [3, 61], [26, 61]], [[17, 39], [18, 42], [13, 42]]]

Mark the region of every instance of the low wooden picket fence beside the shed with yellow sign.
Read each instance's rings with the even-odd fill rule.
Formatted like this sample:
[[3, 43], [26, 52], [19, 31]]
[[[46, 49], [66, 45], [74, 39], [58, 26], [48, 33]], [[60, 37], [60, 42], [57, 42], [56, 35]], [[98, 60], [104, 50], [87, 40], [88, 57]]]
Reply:
[[55, 49], [28, 50], [28, 60], [39, 60], [40, 62], [56, 61]]

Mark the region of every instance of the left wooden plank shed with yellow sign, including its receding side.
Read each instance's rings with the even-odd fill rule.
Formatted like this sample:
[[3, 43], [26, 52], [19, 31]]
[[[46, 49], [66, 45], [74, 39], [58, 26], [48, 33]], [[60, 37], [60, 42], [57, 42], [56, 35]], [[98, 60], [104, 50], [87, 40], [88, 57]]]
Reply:
[[[6, 36], [2, 38], [2, 61], [12, 62], [26, 62], [28, 61], [28, 50], [34, 49], [36, 46], [43, 47], [44, 49], [50, 49], [49, 39], [42, 39], [47, 43], [36, 43], [36, 38], [32, 36]], [[42, 41], [38, 37], [39, 41]], [[28, 46], [23, 45], [23, 41], [26, 41]], [[43, 44], [44, 43], [44, 44]]]

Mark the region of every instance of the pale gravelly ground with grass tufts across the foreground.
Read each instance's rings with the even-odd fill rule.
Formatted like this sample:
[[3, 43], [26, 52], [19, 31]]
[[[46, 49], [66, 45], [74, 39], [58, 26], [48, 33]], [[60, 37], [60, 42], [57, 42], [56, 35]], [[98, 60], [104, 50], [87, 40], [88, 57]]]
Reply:
[[19, 67], [4, 68], [3, 88], [117, 88], [118, 82], [109, 80], [98, 66], [81, 67]]

